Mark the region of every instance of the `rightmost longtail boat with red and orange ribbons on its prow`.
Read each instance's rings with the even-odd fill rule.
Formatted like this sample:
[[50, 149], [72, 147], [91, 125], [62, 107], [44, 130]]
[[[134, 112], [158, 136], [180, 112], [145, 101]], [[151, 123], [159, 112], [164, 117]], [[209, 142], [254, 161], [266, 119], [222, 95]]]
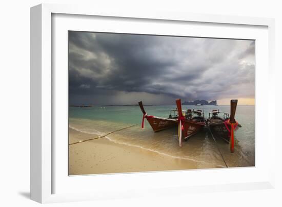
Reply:
[[238, 100], [230, 101], [230, 117], [226, 112], [212, 110], [209, 112], [209, 118], [206, 120], [212, 136], [224, 139], [230, 144], [230, 151], [234, 153], [234, 131], [240, 124], [235, 120], [235, 112]]

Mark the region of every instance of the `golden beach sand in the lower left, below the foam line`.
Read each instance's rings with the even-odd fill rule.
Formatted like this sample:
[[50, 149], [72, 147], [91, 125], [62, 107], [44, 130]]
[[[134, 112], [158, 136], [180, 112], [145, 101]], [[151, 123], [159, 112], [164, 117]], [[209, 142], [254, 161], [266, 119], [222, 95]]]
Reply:
[[[69, 128], [70, 143], [93, 137], [96, 136]], [[69, 145], [69, 175], [187, 170], [198, 168], [197, 165], [191, 160], [160, 155], [107, 138]]]

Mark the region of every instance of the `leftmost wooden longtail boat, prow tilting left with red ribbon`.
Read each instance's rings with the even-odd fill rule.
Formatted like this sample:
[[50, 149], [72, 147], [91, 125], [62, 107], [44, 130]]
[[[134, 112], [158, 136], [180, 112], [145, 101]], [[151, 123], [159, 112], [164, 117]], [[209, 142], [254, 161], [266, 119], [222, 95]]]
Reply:
[[[140, 106], [140, 109], [143, 112], [142, 128], [144, 128], [145, 119], [147, 119], [147, 121], [151, 125], [154, 132], [177, 126], [178, 115], [175, 113], [175, 112], [177, 112], [177, 110], [171, 110], [169, 118], [155, 117], [155, 116], [147, 115], [142, 101], [138, 102], [138, 104]], [[174, 112], [174, 114], [173, 114], [173, 112]]]

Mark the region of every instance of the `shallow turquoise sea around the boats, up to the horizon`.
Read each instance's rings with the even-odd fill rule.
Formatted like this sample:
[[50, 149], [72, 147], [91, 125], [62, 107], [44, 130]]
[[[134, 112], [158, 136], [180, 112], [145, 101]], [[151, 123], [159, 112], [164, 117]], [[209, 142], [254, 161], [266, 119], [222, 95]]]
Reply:
[[[144, 106], [148, 115], [168, 118], [169, 111], [175, 105]], [[209, 111], [219, 109], [230, 112], [230, 106], [187, 106], [183, 109], [202, 109], [205, 118]], [[198, 134], [178, 146], [177, 128], [154, 133], [146, 121], [145, 129], [141, 128], [143, 114], [139, 106], [93, 106], [69, 107], [69, 127], [84, 133], [103, 135], [119, 128], [137, 124], [134, 127], [108, 135], [106, 139], [143, 150], [150, 150], [157, 154], [188, 159], [198, 163], [197, 168], [225, 167], [223, 154], [229, 167], [255, 165], [255, 107], [253, 105], [238, 105], [235, 119], [241, 124], [235, 132], [235, 153], [231, 154], [229, 144], [223, 140], [212, 139], [209, 130], [203, 129]], [[220, 153], [218, 152], [218, 148]]]

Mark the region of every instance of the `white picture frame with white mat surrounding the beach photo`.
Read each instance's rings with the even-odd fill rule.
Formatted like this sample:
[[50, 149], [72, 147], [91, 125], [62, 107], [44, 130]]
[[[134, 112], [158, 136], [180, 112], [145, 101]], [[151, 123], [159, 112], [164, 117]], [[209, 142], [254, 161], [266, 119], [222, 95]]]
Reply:
[[[261, 30], [261, 36], [258, 39], [261, 40], [261, 47], [258, 45], [260, 50], [256, 47], [256, 57], [267, 57], [259, 58], [256, 60], [256, 115], [257, 110], [265, 107], [266, 115], [265, 117], [256, 116], [256, 129], [259, 130], [261, 121], [258, 118], [265, 118], [268, 120], [266, 127], [270, 128], [270, 115], [267, 111], [273, 110], [273, 105], [271, 105], [269, 100], [274, 99], [274, 20], [271, 18], [258, 18], [258, 17], [239, 17], [239, 16], [220, 16], [220, 15], [209, 15], [209, 14], [189, 14], [189, 13], [176, 13], [168, 11], [138, 11], [136, 10], [103, 10], [100, 8], [93, 8], [87, 6], [77, 6], [77, 5], [53, 5], [53, 4], [42, 4], [31, 8], [31, 199], [41, 203], [49, 202], [66, 202], [66, 201], [81, 201], [81, 200], [93, 200], [93, 199], [110, 199], [110, 198], [129, 198], [129, 197], [139, 197], [139, 196], [150, 196], [152, 193], [154, 195], [178, 195], [183, 193], [191, 192], [215, 192], [215, 191], [238, 191], [238, 190], [251, 190], [251, 189], [270, 189], [274, 186], [274, 164], [267, 162], [267, 160], [274, 160], [274, 148], [275, 148], [275, 136], [274, 131], [269, 131], [269, 134], [265, 135], [267, 137], [267, 143], [260, 142], [257, 137], [262, 136], [257, 134], [256, 131], [256, 166], [249, 168], [233, 168], [225, 171], [225, 169], [214, 169], [214, 170], [195, 170], [195, 171], [176, 171], [176, 172], [165, 172], [165, 173], [131, 173], [131, 174], [110, 174], [110, 175], [95, 175], [95, 176], [74, 176], [69, 177], [65, 173], [65, 167], [62, 169], [61, 166], [64, 157], [58, 155], [58, 151], [61, 152], [61, 143], [57, 143], [54, 140], [54, 132], [56, 126], [54, 125], [54, 117], [65, 117], [66, 113], [60, 114], [58, 111], [54, 110], [57, 107], [56, 93], [58, 93], [58, 88], [56, 88], [55, 76], [64, 76], [65, 73], [57, 73], [58, 70], [54, 71], [56, 68], [56, 55], [60, 55], [59, 51], [65, 51], [65, 47], [60, 45], [65, 41], [54, 41], [52, 38], [63, 38], [64, 35], [59, 37], [64, 31], [66, 31], [68, 24], [62, 24], [67, 20], [54, 21], [52, 16], [56, 14], [62, 15], [62, 18], [71, 18], [73, 16], [73, 25], [79, 24], [79, 21], [83, 22], [80, 24], [80, 29], [92, 31], [93, 29], [88, 29], [88, 21], [92, 17], [99, 17], [99, 21], [103, 21], [103, 18], [111, 17], [111, 21], [123, 20], [125, 26], [123, 30], [126, 30], [127, 21], [133, 22], [146, 22], [151, 21], [154, 24], [159, 24], [160, 21], [164, 24], [170, 24], [171, 26], [176, 24], [182, 24], [182, 27], [186, 27], [186, 23], [193, 24], [203, 24], [203, 28], [208, 27], [212, 24], [213, 27], [218, 28], [217, 34], [208, 34], [207, 37], [225, 37], [225, 38], [239, 38], [240, 35], [242, 39], [251, 37], [256, 30], [252, 33], [252, 28], [263, 28]], [[64, 16], [65, 15], [65, 16]], [[80, 15], [78, 20], [76, 19]], [[84, 18], [85, 17], [85, 18]], [[87, 18], [86, 18], [87, 17]], [[115, 20], [116, 19], [116, 20]], [[60, 22], [61, 21], [61, 22]], [[88, 22], [89, 23], [89, 22]], [[60, 27], [57, 28], [58, 24]], [[97, 23], [99, 24], [99, 23]], [[111, 23], [109, 23], [111, 24]], [[66, 25], [66, 27], [64, 27]], [[242, 28], [241, 31], [251, 28], [250, 34], [238, 34], [239, 32], [233, 32], [232, 36], [229, 33], [220, 28], [230, 27], [231, 30], [236, 31], [239, 27]], [[73, 26], [75, 27], [75, 26]], [[244, 29], [245, 28], [245, 29]], [[62, 32], [55, 33], [53, 36], [53, 29], [61, 29]], [[126, 31], [133, 31], [133, 33], [140, 32], [137, 28], [130, 27]], [[64, 30], [64, 31], [63, 31]], [[100, 30], [103, 30], [100, 27]], [[177, 30], [177, 29], [176, 29]], [[176, 31], [175, 30], [175, 31]], [[109, 31], [109, 30], [107, 30]], [[113, 31], [113, 30], [111, 30]], [[221, 35], [218, 36], [218, 32], [221, 31]], [[158, 31], [154, 30], [153, 33]], [[160, 33], [166, 32], [163, 30]], [[204, 32], [202, 29], [199, 32]], [[242, 33], [242, 32], [241, 32]], [[257, 32], [260, 33], [260, 32]], [[170, 32], [172, 34], [172, 32]], [[175, 35], [179, 34], [179, 29], [176, 31]], [[57, 36], [56, 36], [57, 35]], [[196, 34], [195, 34], [196, 35]], [[202, 35], [205, 35], [203, 33]], [[246, 36], [244, 36], [246, 35]], [[252, 38], [250, 38], [252, 39]], [[58, 39], [63, 40], [63, 39]], [[259, 43], [259, 44], [260, 44]], [[65, 44], [65, 43], [62, 43]], [[66, 46], [66, 45], [65, 45]], [[267, 51], [262, 51], [265, 48]], [[54, 55], [54, 51], [56, 53]], [[264, 53], [263, 53], [264, 52]], [[67, 55], [67, 52], [65, 56]], [[64, 59], [64, 58], [63, 58]], [[62, 59], [62, 60], [63, 60]], [[260, 62], [261, 61], [261, 62]], [[58, 64], [63, 64], [64, 60]], [[265, 66], [265, 69], [259, 70], [260, 66]], [[261, 67], [263, 68], [263, 67]], [[263, 77], [267, 77], [267, 84], [263, 87], [261, 85], [261, 80]], [[258, 82], [260, 84], [258, 84]], [[64, 84], [63, 84], [64, 85]], [[257, 92], [259, 90], [259, 93]], [[61, 94], [64, 93], [65, 89], [61, 88]], [[267, 100], [261, 102], [263, 98], [267, 96]], [[62, 101], [64, 101], [65, 96], [61, 96]], [[66, 100], [65, 100], [66, 101]], [[53, 108], [52, 108], [53, 107]], [[64, 105], [62, 107], [66, 107]], [[64, 110], [63, 110], [64, 112]], [[66, 112], [66, 111], [65, 111]], [[66, 118], [66, 117], [65, 117]], [[58, 118], [59, 119], [59, 118]], [[57, 120], [58, 121], [58, 120]], [[56, 122], [58, 123], [58, 122]], [[62, 131], [63, 133], [63, 131]], [[56, 145], [54, 145], [54, 143]], [[64, 142], [63, 142], [64, 143]], [[67, 143], [66, 143], [67, 145]], [[55, 147], [56, 146], [56, 147]], [[264, 148], [267, 157], [263, 158], [261, 154]], [[64, 150], [64, 149], [63, 149]], [[63, 152], [63, 151], [62, 151]], [[61, 157], [58, 157], [61, 156]], [[272, 158], [272, 159], [271, 159]], [[67, 162], [67, 160], [66, 160]], [[59, 163], [58, 165], [56, 163]], [[64, 165], [64, 163], [63, 163]], [[62, 166], [63, 166], [62, 165]], [[58, 173], [63, 172], [63, 173]], [[189, 174], [189, 175], [188, 175]], [[223, 176], [223, 179], [218, 178], [218, 174]], [[199, 181], [200, 177], [207, 177], [209, 175], [215, 178], [211, 182], [210, 178], [202, 179]], [[247, 175], [243, 178], [243, 175]], [[252, 176], [253, 175], [253, 176]], [[61, 176], [61, 177], [60, 177]], [[224, 177], [236, 177], [239, 178], [231, 179], [226, 181]], [[192, 180], [183, 180], [184, 177], [193, 177], [195, 182]], [[251, 179], [252, 177], [252, 179]], [[171, 178], [175, 178], [171, 180]], [[153, 181], [150, 184], [144, 184], [144, 180]], [[166, 183], [163, 181], [166, 180]], [[87, 183], [94, 182], [93, 185], [87, 185]], [[73, 186], [82, 185], [85, 191], [76, 192], [68, 191], [68, 185], [71, 183]], [[105, 185], [105, 186], [103, 186]], [[123, 186], [120, 186], [123, 185]], [[61, 186], [61, 188], [59, 187]], [[62, 186], [65, 186], [62, 187]], [[115, 186], [118, 186], [115, 187]], [[98, 191], [97, 191], [98, 190]], [[134, 191], [132, 191], [134, 190]], [[157, 190], [157, 191], [156, 191]], [[172, 193], [173, 192], [173, 193]]]

